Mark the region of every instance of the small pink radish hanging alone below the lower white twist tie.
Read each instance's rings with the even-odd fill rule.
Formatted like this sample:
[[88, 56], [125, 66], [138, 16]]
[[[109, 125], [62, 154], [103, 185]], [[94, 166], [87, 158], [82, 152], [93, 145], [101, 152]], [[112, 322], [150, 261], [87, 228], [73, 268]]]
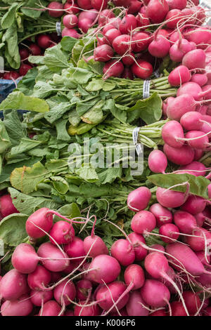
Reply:
[[167, 157], [164, 152], [161, 150], [153, 150], [148, 156], [148, 167], [154, 173], [165, 173]]

